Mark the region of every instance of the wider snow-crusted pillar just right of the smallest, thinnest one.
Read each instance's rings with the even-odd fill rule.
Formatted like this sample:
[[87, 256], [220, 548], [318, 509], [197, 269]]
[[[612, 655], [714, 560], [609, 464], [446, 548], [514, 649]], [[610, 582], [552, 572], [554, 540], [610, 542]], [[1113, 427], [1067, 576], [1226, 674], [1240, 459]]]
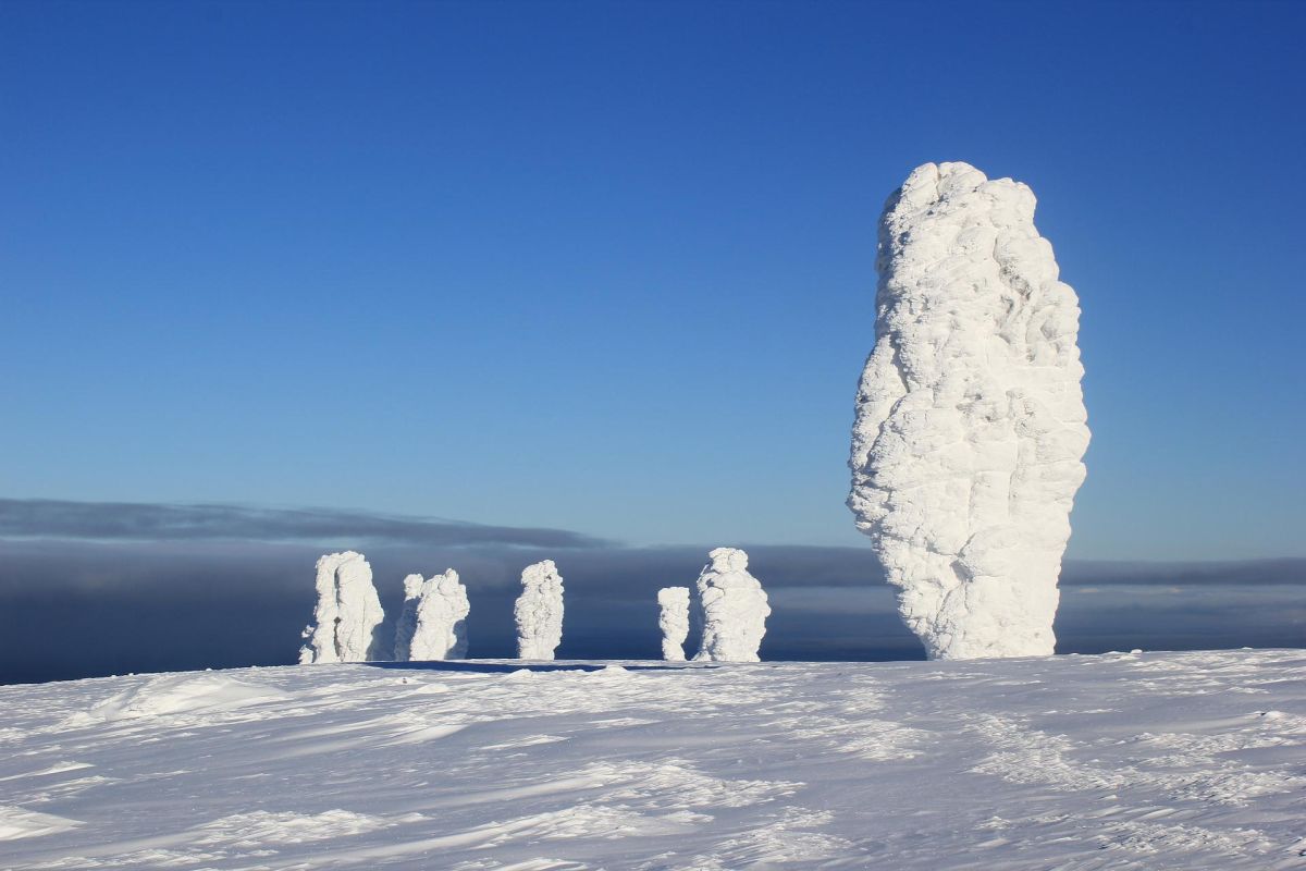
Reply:
[[718, 547], [699, 575], [703, 641], [696, 661], [759, 662], [771, 606], [756, 577], [748, 573], [748, 555]]

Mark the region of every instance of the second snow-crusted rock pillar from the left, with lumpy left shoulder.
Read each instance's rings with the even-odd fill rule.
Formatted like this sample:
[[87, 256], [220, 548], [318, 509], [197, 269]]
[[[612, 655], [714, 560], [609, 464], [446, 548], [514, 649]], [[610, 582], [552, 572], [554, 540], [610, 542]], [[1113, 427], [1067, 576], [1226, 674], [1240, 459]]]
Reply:
[[452, 568], [426, 580], [404, 578], [404, 610], [394, 626], [394, 661], [461, 659], [468, 654], [468, 588]]

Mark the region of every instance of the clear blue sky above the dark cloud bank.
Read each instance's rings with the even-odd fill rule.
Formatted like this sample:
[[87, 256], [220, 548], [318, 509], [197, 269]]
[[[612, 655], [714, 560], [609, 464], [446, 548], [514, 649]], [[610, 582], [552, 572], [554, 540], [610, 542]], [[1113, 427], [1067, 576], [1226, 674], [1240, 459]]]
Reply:
[[0, 3], [0, 491], [855, 543], [875, 219], [1029, 183], [1079, 558], [1301, 555], [1306, 4]]

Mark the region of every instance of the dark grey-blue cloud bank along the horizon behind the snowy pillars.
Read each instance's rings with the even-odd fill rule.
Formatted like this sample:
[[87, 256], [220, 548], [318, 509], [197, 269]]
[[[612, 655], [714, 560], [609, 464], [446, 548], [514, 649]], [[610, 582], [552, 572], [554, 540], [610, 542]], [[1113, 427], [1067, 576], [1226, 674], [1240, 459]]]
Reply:
[[[505, 531], [490, 541], [432, 539], [434, 521], [402, 518], [385, 526], [389, 537], [370, 539], [345, 538], [336, 526], [324, 538], [272, 538], [264, 530], [239, 539], [239, 525], [222, 528], [222, 535], [166, 533], [154, 539], [137, 526], [115, 538], [103, 528], [73, 531], [81, 528], [67, 520], [42, 526], [30, 513], [16, 526], [5, 520], [12, 516], [0, 513], [0, 614], [9, 618], [0, 633], [0, 683], [293, 663], [312, 615], [313, 564], [332, 542], [367, 554], [390, 615], [401, 610], [406, 575], [454, 567], [471, 601], [473, 657], [516, 656], [512, 607], [521, 569], [555, 559], [567, 577], [559, 658], [660, 658], [658, 589], [692, 585], [708, 550], [727, 543], [622, 547], [563, 530], [526, 530], [575, 542], [563, 550]], [[273, 521], [278, 530], [307, 529], [293, 518]], [[405, 524], [411, 533], [400, 531], [409, 529]], [[468, 528], [487, 529], [441, 526]], [[742, 546], [773, 609], [764, 659], [923, 657], [868, 548]], [[1306, 641], [1306, 559], [1071, 562], [1063, 586], [1057, 618], [1062, 653]], [[392, 642], [384, 639], [384, 645]]]

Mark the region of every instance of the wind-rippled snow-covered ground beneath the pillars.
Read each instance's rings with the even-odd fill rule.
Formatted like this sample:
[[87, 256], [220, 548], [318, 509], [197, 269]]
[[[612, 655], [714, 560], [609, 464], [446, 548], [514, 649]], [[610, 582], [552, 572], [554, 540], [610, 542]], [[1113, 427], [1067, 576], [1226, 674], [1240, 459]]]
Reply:
[[1306, 652], [0, 688], [4, 868], [1301, 868]]

